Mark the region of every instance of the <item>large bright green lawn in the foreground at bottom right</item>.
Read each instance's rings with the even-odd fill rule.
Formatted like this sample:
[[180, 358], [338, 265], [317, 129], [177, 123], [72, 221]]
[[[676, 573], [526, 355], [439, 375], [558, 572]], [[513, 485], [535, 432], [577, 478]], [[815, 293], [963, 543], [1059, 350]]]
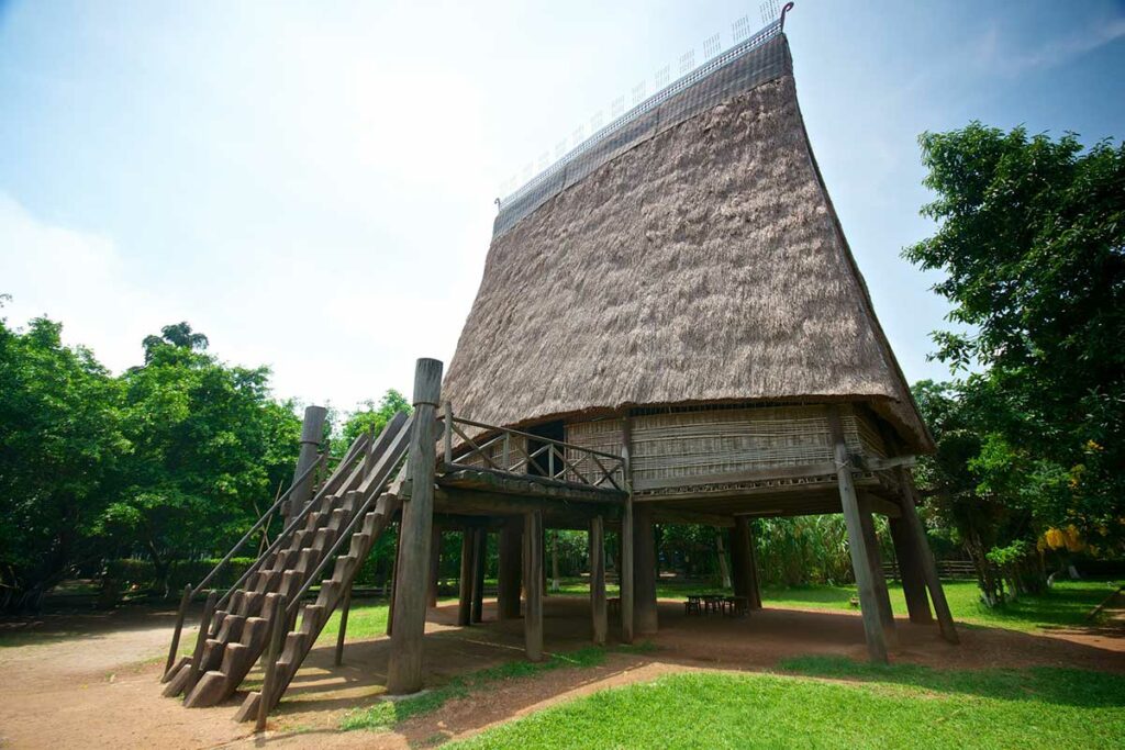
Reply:
[[691, 672], [603, 690], [450, 748], [1113, 748], [1125, 678], [1074, 669], [939, 671], [791, 660], [857, 679]]

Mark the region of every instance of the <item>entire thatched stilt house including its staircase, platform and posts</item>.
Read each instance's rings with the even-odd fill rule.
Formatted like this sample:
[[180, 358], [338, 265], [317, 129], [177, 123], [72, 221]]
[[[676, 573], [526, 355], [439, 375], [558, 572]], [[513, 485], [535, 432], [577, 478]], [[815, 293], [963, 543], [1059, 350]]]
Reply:
[[[909, 475], [932, 441], [817, 170], [783, 19], [502, 204], [448, 377], [418, 360], [412, 416], [360, 435], [327, 471], [324, 409], [306, 412], [292, 486], [183, 594], [165, 695], [220, 703], [266, 653], [263, 686], [237, 714], [263, 728], [336, 607], [340, 663], [351, 587], [396, 521], [390, 693], [424, 683], [443, 531], [461, 533], [458, 623], [483, 622], [497, 532], [497, 615], [522, 615], [528, 657], [541, 659], [544, 527], [588, 530], [592, 632], [604, 643], [611, 611], [626, 641], [657, 629], [654, 524], [729, 528], [722, 605], [748, 615], [762, 607], [750, 521], [843, 513], [867, 648], [886, 660], [897, 630], [882, 514], [910, 620], [932, 623], [932, 600], [956, 640]], [[178, 660], [191, 598], [274, 512], [285, 530], [225, 594], [208, 591], [194, 653]], [[615, 599], [606, 530], [619, 541]], [[664, 613], [702, 611], [686, 604]]]

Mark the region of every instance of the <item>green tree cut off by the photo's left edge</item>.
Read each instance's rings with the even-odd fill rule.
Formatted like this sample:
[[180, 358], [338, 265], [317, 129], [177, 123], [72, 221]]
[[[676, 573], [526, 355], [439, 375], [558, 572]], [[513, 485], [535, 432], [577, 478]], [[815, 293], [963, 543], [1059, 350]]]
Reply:
[[0, 319], [0, 608], [35, 607], [45, 590], [100, 559], [92, 533], [130, 445], [118, 383], [62, 324]]

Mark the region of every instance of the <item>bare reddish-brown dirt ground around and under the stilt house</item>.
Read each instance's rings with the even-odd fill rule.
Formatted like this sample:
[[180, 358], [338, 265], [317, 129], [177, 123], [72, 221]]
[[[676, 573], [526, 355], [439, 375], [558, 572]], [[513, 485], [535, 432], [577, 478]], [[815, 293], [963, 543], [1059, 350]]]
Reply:
[[[453, 626], [456, 605], [430, 615], [429, 684], [522, 657], [522, 623], [488, 622], [494, 620], [490, 603], [483, 626]], [[900, 618], [901, 645], [892, 659], [943, 668], [1045, 665], [1125, 672], [1125, 609], [1113, 615], [1104, 626], [1070, 631], [962, 626], [957, 647], [942, 641], [934, 626]], [[590, 638], [588, 605], [583, 598], [549, 597], [544, 625], [549, 650], [580, 648]], [[251, 725], [232, 721], [241, 694], [220, 706], [197, 710], [161, 697], [158, 680], [171, 627], [172, 613], [151, 611], [53, 616], [35, 623], [42, 641], [0, 648], [0, 747], [408, 748], [467, 737], [552, 703], [668, 671], [765, 670], [791, 656], [863, 659], [866, 652], [863, 625], [854, 613], [766, 608], [745, 620], [687, 617], [681, 603], [662, 602], [660, 632], [646, 638], [657, 647], [651, 651], [611, 653], [598, 667], [501, 681], [394, 732], [376, 733], [340, 732], [336, 726], [349, 711], [379, 699], [389, 641], [349, 643], [339, 668], [332, 667], [332, 645], [321, 645], [271, 717], [270, 731], [254, 738]]]

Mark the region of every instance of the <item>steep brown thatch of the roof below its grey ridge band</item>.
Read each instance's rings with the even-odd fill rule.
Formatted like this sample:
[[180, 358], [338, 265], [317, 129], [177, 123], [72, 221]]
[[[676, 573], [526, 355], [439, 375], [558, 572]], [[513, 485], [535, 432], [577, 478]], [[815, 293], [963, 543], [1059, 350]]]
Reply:
[[932, 446], [813, 160], [784, 37], [768, 45], [786, 62], [771, 80], [497, 222], [443, 387], [459, 415], [855, 400]]

